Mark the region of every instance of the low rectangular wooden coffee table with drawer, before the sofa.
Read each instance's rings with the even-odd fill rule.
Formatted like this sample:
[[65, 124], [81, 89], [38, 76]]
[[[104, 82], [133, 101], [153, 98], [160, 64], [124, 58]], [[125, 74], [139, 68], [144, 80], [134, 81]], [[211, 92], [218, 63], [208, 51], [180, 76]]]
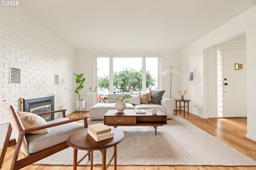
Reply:
[[116, 109], [110, 109], [104, 116], [104, 124], [108, 126], [163, 126], [167, 124], [167, 115], [162, 111], [152, 114], [151, 111], [145, 110], [146, 114], [137, 114], [135, 109], [127, 109], [118, 113]]

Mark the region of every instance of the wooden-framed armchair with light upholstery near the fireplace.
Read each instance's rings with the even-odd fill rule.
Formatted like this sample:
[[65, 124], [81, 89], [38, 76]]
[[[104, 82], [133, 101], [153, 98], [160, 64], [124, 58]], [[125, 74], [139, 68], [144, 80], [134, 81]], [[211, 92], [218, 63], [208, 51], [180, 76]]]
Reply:
[[[41, 160], [42, 158], [46, 158], [47, 156], [50, 156], [56, 152], [68, 148], [69, 146], [66, 142], [68, 137], [75, 131], [88, 127], [87, 118], [89, 116], [83, 116], [69, 120], [65, 118], [66, 110], [64, 109], [40, 113], [41, 115], [62, 111], [63, 118], [49, 121], [47, 122], [47, 125], [25, 129], [14, 107], [10, 104], [7, 104], [6, 101], [4, 101], [4, 108], [10, 119], [10, 124], [7, 131], [6, 139], [4, 141], [2, 154], [0, 157], [0, 168], [2, 168], [7, 148], [12, 145], [16, 144], [16, 147], [12, 158], [10, 170], [18, 170], [34, 162], [37, 162], [38, 160]], [[84, 119], [84, 125], [74, 122], [82, 119]], [[49, 128], [49, 133], [30, 134], [33, 131], [38, 131], [46, 128]], [[14, 131], [15, 139], [10, 140], [12, 131]], [[42, 145], [42, 140], [44, 139], [46, 139], [46, 142], [43, 142]], [[36, 140], [39, 141], [36, 142]], [[41, 145], [36, 146], [36, 143], [41, 143]], [[20, 150], [23, 152], [25, 158], [18, 160]]]

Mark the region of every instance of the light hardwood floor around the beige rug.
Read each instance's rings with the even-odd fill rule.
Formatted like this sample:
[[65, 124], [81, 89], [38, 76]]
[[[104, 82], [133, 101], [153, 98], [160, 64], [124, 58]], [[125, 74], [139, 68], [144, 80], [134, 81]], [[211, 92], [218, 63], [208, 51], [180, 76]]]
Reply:
[[[88, 111], [86, 111], [88, 114]], [[175, 116], [175, 115], [174, 115]], [[177, 116], [184, 118], [183, 111]], [[70, 119], [76, 117], [76, 113], [68, 115]], [[202, 130], [208, 132], [214, 137], [220, 139], [224, 143], [230, 145], [239, 152], [247, 155], [256, 161], [256, 143], [245, 139], [246, 135], [246, 118], [232, 119], [202, 119], [196, 115], [190, 114], [184, 118], [190, 123], [198, 126]], [[10, 167], [14, 147], [7, 150], [4, 164], [1, 170], [7, 170]], [[73, 154], [73, 153], [70, 153]], [[20, 154], [23, 156], [23, 154]], [[72, 170], [72, 166], [39, 166], [30, 165], [22, 170]], [[90, 170], [90, 166], [78, 166], [78, 170]], [[94, 170], [100, 170], [101, 166], [94, 166]], [[118, 170], [256, 170], [256, 166], [118, 166]], [[109, 166], [108, 170], [114, 170], [113, 166]]]

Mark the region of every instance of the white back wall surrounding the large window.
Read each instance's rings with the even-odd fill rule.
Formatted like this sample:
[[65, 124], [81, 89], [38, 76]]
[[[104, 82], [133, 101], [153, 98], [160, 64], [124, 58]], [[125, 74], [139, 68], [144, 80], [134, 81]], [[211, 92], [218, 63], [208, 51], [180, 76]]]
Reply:
[[[117, 55], [117, 54], [126, 54], [126, 55], [150, 55], [150, 54], [160, 54], [162, 55], [161, 59], [161, 69], [163, 72], [168, 67], [173, 66], [174, 68], [181, 70], [180, 63], [180, 51], [78, 51], [77, 52], [77, 73], [84, 73], [86, 78], [85, 87], [87, 90], [90, 87], [96, 87], [97, 84], [94, 79], [96, 77], [96, 70], [94, 69], [95, 60], [94, 55], [105, 54], [105, 55]], [[166, 90], [164, 93], [164, 97], [170, 98], [170, 76], [161, 76], [162, 84], [160, 84], [160, 88], [162, 90]], [[172, 76], [172, 98], [180, 98], [177, 93], [177, 90], [181, 88], [180, 79], [181, 75]], [[161, 80], [160, 80], [161, 81]], [[84, 90], [84, 92], [85, 92]], [[89, 110], [94, 104], [96, 104], [96, 98], [93, 95], [87, 95], [85, 97], [86, 100], [86, 110]], [[175, 106], [175, 105], [174, 105]]]

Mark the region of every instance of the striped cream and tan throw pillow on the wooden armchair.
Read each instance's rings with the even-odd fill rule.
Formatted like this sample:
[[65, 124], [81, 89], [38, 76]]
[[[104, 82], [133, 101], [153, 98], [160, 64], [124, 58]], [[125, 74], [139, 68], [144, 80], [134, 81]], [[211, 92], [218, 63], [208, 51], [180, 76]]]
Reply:
[[[17, 111], [17, 113], [25, 129], [47, 125], [46, 121], [41, 116], [35, 113], [30, 113], [25, 111]], [[30, 134], [43, 134], [43, 133], [49, 133], [49, 128], [30, 132]]]

